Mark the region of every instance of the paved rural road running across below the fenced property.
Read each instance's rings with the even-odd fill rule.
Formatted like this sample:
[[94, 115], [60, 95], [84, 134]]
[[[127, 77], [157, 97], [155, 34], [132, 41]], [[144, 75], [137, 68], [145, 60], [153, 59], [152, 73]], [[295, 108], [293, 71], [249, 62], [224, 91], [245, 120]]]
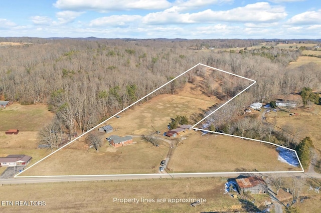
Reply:
[[[187, 177], [237, 177], [243, 173], [155, 173], [155, 174], [111, 174], [111, 175], [83, 175], [83, 176], [48, 176], [48, 177], [16, 177], [0, 179], [0, 184], [24, 184], [45, 182], [75, 182], [75, 181], [103, 181], [103, 180], [133, 180], [133, 179], [159, 179], [159, 178], [187, 178]], [[301, 176], [321, 178], [321, 174], [287, 172], [278, 173], [280, 176]], [[263, 173], [264, 175], [268, 175]]]

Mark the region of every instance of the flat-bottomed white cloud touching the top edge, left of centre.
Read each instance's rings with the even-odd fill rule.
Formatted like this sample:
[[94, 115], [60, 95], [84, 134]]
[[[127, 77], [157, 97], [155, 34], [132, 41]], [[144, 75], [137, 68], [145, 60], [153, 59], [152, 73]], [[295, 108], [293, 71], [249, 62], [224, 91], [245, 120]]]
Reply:
[[56, 8], [63, 10], [92, 10], [99, 12], [123, 10], [159, 10], [171, 6], [167, 0], [57, 0]]

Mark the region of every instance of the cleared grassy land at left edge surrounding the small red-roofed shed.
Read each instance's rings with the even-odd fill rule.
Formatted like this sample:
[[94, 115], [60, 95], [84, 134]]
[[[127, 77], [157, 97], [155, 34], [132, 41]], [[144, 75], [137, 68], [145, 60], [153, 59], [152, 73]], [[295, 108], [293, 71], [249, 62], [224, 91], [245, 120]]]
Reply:
[[[23, 106], [17, 103], [0, 110], [0, 157], [10, 154], [32, 156], [31, 164], [42, 159], [50, 152], [37, 149], [38, 130], [43, 127], [53, 114], [43, 104]], [[8, 129], [19, 129], [18, 135], [6, 135]]]

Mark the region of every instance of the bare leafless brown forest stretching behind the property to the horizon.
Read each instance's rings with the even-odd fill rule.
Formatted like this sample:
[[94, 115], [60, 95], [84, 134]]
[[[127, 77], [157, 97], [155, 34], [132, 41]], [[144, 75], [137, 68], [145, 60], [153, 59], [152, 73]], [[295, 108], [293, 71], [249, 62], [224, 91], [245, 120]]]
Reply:
[[[91, 129], [198, 63], [257, 81], [242, 100], [243, 111], [252, 102], [269, 102], [304, 87], [321, 89], [321, 68], [315, 63], [287, 68], [302, 49], [248, 48], [262, 40], [0, 38], [0, 42], [25, 43], [0, 46], [1, 97], [25, 105], [48, 104], [55, 118], [40, 134], [49, 132], [51, 139], [43, 142], [56, 148], [61, 132], [71, 137], [77, 130]], [[243, 49], [223, 49], [233, 47]], [[148, 98], [174, 93], [192, 78], [182, 78]], [[226, 91], [232, 89], [228, 82], [224, 85]]]

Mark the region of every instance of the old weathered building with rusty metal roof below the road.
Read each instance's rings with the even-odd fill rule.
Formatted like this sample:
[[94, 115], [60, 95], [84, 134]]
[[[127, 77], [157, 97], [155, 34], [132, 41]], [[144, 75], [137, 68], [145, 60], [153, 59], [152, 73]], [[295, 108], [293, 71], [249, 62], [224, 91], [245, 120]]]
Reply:
[[252, 194], [266, 194], [267, 193], [267, 184], [261, 178], [257, 176], [245, 177], [235, 179], [236, 188], [240, 194], [249, 191]]

